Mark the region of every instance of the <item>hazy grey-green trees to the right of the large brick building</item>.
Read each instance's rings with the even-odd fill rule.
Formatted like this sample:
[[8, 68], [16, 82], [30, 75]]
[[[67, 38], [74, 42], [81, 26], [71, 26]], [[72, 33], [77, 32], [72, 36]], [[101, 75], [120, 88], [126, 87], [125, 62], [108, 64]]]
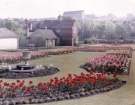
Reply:
[[78, 21], [80, 40], [135, 40], [135, 18], [132, 20], [83, 20]]

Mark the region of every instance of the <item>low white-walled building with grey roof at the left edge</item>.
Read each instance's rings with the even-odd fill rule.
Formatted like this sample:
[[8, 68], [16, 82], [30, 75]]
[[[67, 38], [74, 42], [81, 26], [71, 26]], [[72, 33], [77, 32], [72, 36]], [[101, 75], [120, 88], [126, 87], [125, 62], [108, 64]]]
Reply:
[[18, 35], [7, 28], [0, 28], [0, 50], [16, 50]]

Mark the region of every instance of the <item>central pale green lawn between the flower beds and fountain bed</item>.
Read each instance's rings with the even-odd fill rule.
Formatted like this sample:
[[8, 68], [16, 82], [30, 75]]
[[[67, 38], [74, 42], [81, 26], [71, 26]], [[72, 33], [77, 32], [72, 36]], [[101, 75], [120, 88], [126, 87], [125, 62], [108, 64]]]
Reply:
[[[74, 52], [63, 55], [50, 55], [49, 57], [43, 57], [35, 60], [31, 60], [30, 64], [36, 65], [54, 65], [60, 69], [60, 72], [44, 77], [33, 77], [27, 78], [26, 81], [33, 80], [34, 83], [39, 81], [47, 81], [55, 76], [65, 76], [68, 73], [80, 73], [84, 70], [80, 69], [79, 66], [85, 63], [90, 56], [102, 55], [104, 52]], [[84, 71], [85, 72], [85, 71]], [[13, 82], [15, 79], [4, 79], [8, 82]]]

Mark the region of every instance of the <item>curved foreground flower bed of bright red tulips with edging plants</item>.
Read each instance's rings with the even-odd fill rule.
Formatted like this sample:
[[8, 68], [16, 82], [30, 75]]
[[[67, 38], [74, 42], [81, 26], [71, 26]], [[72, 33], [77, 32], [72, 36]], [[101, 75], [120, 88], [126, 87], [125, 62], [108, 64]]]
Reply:
[[[106, 73], [68, 74], [66, 77], [55, 77], [48, 82], [34, 84], [17, 80], [8, 83], [0, 80], [0, 105], [30, 104], [63, 99], [79, 98], [121, 87], [125, 81], [116, 78], [108, 79]], [[24, 99], [24, 100], [23, 100]]]

